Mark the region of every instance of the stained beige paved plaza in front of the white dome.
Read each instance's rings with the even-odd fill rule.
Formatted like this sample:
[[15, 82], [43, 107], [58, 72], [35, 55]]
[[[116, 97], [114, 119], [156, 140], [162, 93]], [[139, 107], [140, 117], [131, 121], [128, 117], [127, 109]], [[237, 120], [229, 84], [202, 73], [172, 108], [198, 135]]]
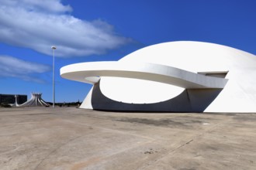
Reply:
[[0, 108], [0, 169], [256, 169], [256, 114]]

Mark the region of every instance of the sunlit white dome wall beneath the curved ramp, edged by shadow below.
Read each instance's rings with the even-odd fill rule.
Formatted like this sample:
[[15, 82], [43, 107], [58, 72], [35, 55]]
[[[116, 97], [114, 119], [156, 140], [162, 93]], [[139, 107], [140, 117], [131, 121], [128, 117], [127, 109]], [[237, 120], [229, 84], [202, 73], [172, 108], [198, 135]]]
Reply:
[[150, 80], [101, 77], [100, 89], [109, 99], [126, 104], [154, 104], [177, 97], [184, 88]]

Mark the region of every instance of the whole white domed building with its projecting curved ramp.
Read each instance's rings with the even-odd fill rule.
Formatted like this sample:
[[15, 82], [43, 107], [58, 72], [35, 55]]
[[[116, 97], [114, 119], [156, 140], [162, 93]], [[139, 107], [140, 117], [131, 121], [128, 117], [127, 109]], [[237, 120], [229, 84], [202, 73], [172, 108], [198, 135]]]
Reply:
[[209, 42], [164, 42], [116, 62], [61, 68], [92, 83], [81, 108], [149, 112], [256, 112], [256, 56]]

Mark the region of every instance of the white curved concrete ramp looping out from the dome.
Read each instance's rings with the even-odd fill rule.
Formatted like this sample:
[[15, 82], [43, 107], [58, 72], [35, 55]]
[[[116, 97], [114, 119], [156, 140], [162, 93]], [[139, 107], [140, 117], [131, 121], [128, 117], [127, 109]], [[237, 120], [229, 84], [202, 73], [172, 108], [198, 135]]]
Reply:
[[61, 68], [61, 76], [84, 83], [98, 83], [100, 76], [116, 76], [168, 83], [186, 89], [223, 88], [227, 79], [204, 76], [171, 66], [153, 63], [91, 62]]

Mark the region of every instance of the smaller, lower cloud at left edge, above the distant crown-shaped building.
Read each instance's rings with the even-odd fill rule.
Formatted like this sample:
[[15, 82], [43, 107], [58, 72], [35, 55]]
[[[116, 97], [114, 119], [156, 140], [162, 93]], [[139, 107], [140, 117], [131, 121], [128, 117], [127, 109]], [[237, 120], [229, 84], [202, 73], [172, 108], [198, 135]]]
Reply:
[[0, 77], [16, 77], [42, 83], [40, 73], [50, 71], [50, 66], [32, 63], [12, 56], [0, 56]]

